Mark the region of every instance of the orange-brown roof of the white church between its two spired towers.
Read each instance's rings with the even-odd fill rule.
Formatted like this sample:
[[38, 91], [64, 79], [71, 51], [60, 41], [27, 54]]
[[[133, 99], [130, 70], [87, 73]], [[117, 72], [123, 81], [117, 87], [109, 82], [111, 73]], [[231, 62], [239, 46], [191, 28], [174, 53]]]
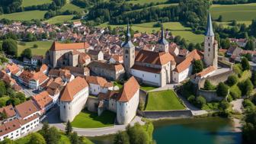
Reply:
[[165, 52], [152, 52], [148, 50], [140, 50], [139, 53], [136, 53], [136, 62], [150, 63], [152, 65], [163, 66], [168, 62], [174, 60], [174, 57], [170, 53]]

